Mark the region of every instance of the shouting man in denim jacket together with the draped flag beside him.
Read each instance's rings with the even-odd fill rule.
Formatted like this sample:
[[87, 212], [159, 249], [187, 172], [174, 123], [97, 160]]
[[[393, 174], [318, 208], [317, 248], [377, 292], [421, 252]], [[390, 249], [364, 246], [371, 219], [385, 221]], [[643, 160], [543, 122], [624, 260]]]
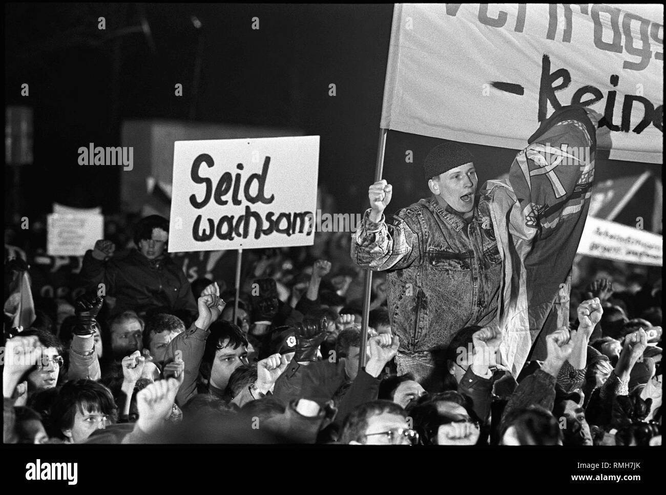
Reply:
[[442, 350], [472, 325], [501, 328], [501, 358], [514, 376], [529, 356], [545, 357], [545, 336], [567, 324], [600, 118], [582, 107], [557, 109], [516, 155], [509, 180], [488, 181], [478, 198], [473, 157], [456, 143], [426, 157], [432, 197], [392, 222], [384, 218], [391, 185], [370, 186], [352, 259], [388, 272], [398, 374], [412, 372], [436, 391]]

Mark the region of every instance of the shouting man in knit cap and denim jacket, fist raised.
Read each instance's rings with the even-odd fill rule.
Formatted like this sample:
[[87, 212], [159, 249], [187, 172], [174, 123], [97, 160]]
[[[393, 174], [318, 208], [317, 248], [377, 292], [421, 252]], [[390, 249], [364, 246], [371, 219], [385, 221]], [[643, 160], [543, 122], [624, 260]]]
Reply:
[[488, 205], [476, 201], [472, 154], [458, 143], [438, 145], [424, 172], [432, 197], [398, 211], [393, 223], [383, 213], [392, 186], [370, 186], [371, 208], [353, 236], [352, 259], [389, 272], [392, 330], [402, 344], [398, 374], [412, 372], [438, 388], [442, 373], [433, 371], [454, 335], [496, 319], [502, 263]]

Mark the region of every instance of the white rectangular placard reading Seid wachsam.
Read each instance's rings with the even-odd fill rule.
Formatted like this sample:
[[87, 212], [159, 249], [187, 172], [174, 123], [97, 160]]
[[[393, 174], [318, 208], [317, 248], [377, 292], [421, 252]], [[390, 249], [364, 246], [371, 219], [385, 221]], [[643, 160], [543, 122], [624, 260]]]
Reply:
[[170, 252], [314, 243], [319, 136], [176, 141]]

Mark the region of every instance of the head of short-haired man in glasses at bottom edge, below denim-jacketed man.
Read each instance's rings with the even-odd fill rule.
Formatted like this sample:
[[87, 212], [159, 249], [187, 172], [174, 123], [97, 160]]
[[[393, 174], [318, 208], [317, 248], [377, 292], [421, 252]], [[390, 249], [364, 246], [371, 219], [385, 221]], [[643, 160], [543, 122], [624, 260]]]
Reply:
[[405, 410], [390, 400], [374, 400], [358, 406], [345, 420], [340, 444], [414, 445], [418, 433], [407, 424]]

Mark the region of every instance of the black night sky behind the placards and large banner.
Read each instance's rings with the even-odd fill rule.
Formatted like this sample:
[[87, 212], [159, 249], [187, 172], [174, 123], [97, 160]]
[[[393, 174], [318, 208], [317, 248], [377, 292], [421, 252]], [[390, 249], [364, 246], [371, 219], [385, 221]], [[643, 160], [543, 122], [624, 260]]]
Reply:
[[[374, 177], [392, 4], [5, 4], [5, 100], [33, 107], [35, 163], [25, 167], [27, 213], [57, 201], [119, 208], [120, 169], [79, 167], [77, 150], [118, 146], [129, 118], [168, 118], [301, 129], [320, 135], [320, 183], [338, 211], [360, 212]], [[142, 33], [105, 39], [149, 21]], [[190, 17], [202, 23], [195, 29]], [[97, 29], [98, 17], [107, 20]], [[251, 29], [252, 17], [260, 29]], [[200, 39], [201, 37], [201, 39]], [[198, 96], [192, 83], [202, 55]], [[22, 83], [30, 96], [21, 97]], [[184, 96], [174, 97], [182, 83]], [[336, 84], [336, 97], [328, 85]], [[420, 163], [437, 140], [390, 132], [386, 177], [396, 209], [425, 193]], [[506, 171], [515, 151], [470, 145], [480, 182]], [[414, 151], [414, 164], [404, 162]], [[599, 161], [597, 180], [661, 166]], [[7, 172], [5, 172], [7, 178]], [[617, 221], [651, 217], [651, 183]]]

